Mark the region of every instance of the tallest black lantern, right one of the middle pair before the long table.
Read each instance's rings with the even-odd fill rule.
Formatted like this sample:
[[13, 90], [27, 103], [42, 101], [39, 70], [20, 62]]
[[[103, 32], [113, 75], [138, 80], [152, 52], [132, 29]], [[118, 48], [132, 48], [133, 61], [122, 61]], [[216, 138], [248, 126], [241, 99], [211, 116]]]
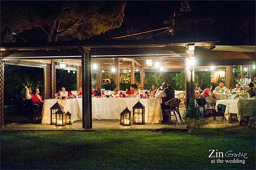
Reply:
[[132, 107], [132, 116], [132, 124], [145, 124], [145, 106], [142, 105], [141, 102], [138, 101]]

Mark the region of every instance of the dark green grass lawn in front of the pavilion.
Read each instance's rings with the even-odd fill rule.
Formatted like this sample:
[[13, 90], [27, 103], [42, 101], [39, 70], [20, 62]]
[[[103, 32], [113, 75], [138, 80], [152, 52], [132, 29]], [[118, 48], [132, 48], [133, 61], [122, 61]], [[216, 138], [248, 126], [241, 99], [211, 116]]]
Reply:
[[[255, 169], [247, 126], [167, 131], [1, 131], [1, 169]], [[211, 163], [209, 150], [247, 153]], [[215, 161], [216, 161], [215, 160]]]

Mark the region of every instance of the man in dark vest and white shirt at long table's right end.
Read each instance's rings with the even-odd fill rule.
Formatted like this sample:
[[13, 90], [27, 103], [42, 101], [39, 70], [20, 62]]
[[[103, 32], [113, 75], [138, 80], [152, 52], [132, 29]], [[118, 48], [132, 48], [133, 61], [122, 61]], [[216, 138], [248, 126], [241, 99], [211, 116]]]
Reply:
[[174, 94], [174, 89], [172, 89], [172, 86], [170, 85], [168, 88], [168, 84], [166, 82], [164, 82], [162, 84], [162, 88], [159, 87], [157, 89], [156, 98], [161, 98], [162, 99], [162, 103], [161, 103], [161, 107], [162, 110], [163, 109], [170, 109], [170, 105], [166, 105], [164, 102], [167, 102], [168, 100], [174, 98], [175, 94]]

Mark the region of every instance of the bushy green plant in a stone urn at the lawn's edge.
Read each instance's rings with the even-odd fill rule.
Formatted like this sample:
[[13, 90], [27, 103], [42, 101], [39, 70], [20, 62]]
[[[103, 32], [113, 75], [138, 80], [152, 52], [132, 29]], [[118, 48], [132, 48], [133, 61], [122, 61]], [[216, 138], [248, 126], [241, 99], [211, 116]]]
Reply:
[[199, 106], [195, 104], [194, 98], [190, 98], [189, 103], [184, 110], [183, 118], [190, 129], [189, 133], [196, 132], [196, 126], [199, 126], [200, 123], [200, 112], [199, 112]]

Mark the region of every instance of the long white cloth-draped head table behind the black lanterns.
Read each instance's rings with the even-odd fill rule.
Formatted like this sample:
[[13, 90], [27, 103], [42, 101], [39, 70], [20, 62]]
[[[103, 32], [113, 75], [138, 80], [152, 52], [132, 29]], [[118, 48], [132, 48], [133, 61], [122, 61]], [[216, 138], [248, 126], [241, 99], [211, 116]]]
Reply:
[[[145, 106], [145, 122], [161, 123], [163, 114], [159, 98], [92, 98], [92, 119], [93, 120], [117, 120], [120, 113], [128, 107], [132, 107], [140, 101]], [[82, 98], [74, 99], [48, 99], [44, 100], [42, 109], [42, 123], [51, 123], [51, 107], [56, 103], [64, 107], [64, 111], [69, 111], [71, 122], [82, 120]]]

